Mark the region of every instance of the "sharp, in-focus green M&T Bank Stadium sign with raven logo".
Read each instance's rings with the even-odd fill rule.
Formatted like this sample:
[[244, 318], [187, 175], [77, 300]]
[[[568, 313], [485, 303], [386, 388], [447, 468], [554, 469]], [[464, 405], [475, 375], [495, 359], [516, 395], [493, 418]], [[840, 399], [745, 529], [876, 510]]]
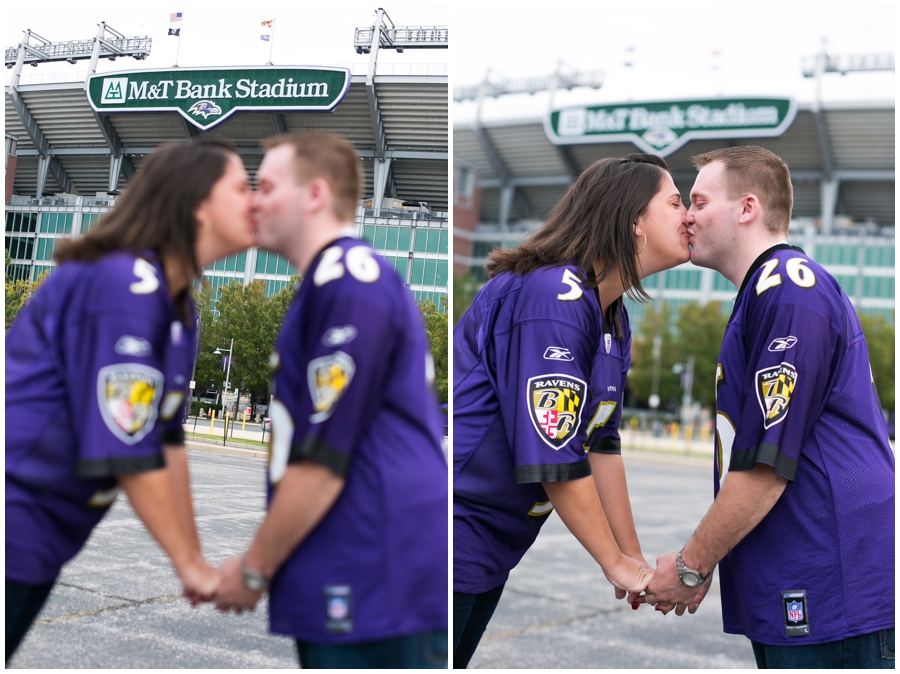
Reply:
[[178, 112], [211, 129], [242, 110], [330, 112], [350, 88], [346, 68], [196, 68], [93, 75], [97, 112]]

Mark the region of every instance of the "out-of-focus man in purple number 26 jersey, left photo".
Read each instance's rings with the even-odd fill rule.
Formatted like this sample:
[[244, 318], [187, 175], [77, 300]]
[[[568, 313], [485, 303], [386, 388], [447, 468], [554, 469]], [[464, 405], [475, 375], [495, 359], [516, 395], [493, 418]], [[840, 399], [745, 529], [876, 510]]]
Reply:
[[220, 609], [269, 588], [307, 668], [447, 664], [447, 464], [419, 310], [353, 238], [360, 160], [281, 136], [257, 174], [259, 245], [303, 275], [272, 358], [269, 511], [222, 569]]

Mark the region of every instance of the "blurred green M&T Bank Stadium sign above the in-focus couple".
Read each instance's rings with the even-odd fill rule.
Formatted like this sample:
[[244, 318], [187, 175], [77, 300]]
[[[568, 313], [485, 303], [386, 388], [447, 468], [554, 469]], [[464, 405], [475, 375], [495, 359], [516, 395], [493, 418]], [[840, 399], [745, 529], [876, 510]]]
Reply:
[[631, 141], [665, 157], [694, 138], [780, 136], [796, 114], [789, 98], [717, 98], [562, 108], [544, 127], [556, 145]]

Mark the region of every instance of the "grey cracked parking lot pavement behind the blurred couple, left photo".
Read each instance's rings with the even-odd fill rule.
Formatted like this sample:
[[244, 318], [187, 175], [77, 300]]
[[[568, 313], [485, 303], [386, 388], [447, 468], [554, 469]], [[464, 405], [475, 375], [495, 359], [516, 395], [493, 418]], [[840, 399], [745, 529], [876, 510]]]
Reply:
[[[265, 461], [188, 451], [204, 552], [244, 551], [265, 509]], [[10, 668], [296, 668], [293, 641], [254, 613], [191, 609], [168, 558], [124, 496], [63, 569]]]

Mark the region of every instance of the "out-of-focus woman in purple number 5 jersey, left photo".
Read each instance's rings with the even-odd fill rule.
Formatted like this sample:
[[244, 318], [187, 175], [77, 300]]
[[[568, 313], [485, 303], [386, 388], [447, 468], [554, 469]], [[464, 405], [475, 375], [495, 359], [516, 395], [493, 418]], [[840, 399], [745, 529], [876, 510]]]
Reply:
[[119, 488], [185, 596], [196, 604], [215, 591], [180, 424], [195, 355], [191, 282], [253, 244], [251, 198], [232, 145], [160, 148], [95, 229], [60, 246], [59, 267], [11, 327], [7, 661]]

